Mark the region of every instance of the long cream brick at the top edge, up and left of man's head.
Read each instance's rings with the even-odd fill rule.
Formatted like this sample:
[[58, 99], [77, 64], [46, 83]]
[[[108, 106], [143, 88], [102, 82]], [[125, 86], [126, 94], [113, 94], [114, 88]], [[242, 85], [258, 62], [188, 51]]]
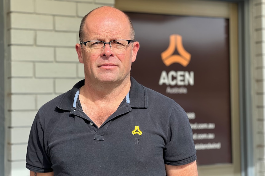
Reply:
[[36, 12], [54, 15], [76, 15], [76, 3], [36, 0]]

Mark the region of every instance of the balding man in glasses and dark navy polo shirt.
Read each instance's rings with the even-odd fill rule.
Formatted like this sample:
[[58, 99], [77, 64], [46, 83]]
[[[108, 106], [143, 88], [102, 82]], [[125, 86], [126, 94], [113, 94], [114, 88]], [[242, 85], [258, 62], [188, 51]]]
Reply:
[[113, 7], [87, 14], [78, 59], [85, 80], [46, 103], [30, 132], [30, 175], [197, 175], [184, 110], [130, 77], [139, 43]]

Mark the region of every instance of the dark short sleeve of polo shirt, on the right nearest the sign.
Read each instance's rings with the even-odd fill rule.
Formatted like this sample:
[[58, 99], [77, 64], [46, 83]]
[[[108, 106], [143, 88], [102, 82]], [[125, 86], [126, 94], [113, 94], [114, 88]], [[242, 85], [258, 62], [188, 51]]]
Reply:
[[175, 103], [168, 124], [165, 164], [184, 165], [196, 160], [192, 129], [186, 112]]

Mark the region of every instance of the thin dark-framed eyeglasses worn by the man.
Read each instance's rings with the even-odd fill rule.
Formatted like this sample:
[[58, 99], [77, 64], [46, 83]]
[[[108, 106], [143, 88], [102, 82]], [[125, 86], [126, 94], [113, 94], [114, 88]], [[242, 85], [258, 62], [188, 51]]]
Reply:
[[135, 42], [135, 41], [134, 40], [112, 40], [110, 42], [103, 42], [103, 41], [93, 40], [93, 41], [87, 41], [87, 42], [80, 42], [80, 44], [84, 44], [88, 52], [97, 53], [97, 52], [103, 51], [105, 44], [109, 44], [113, 52], [126, 51], [131, 42]]

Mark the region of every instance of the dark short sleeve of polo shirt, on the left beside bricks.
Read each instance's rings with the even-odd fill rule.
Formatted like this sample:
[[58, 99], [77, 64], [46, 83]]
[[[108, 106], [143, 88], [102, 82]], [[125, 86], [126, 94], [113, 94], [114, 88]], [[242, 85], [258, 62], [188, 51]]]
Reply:
[[43, 140], [44, 132], [39, 121], [40, 117], [38, 113], [30, 130], [26, 155], [26, 168], [39, 173], [52, 172], [52, 163], [50, 162], [49, 156], [45, 152]]

